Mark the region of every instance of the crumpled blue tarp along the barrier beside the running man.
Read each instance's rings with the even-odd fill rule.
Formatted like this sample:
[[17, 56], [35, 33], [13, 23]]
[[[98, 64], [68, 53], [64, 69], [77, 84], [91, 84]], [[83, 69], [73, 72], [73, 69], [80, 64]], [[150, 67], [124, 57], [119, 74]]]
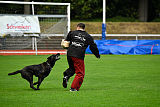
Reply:
[[[95, 40], [100, 54], [160, 54], [160, 40]], [[92, 54], [89, 47], [86, 53]]]

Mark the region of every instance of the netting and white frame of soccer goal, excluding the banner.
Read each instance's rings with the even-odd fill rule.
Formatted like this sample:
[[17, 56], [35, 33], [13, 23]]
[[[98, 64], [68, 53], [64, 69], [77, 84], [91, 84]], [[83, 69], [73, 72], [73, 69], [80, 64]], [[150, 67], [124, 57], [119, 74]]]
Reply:
[[70, 30], [70, 3], [0, 1], [4, 16], [36, 16], [40, 33], [0, 30], [0, 50], [61, 49], [59, 42]]

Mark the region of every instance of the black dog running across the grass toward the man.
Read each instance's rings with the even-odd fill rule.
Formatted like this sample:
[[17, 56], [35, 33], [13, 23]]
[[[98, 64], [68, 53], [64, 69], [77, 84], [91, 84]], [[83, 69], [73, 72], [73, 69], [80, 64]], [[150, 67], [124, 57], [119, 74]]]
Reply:
[[[22, 70], [18, 70], [13, 73], [9, 73], [8, 75], [15, 75], [18, 73], [21, 73], [22, 78], [26, 79], [30, 83], [30, 87], [34, 90], [39, 90], [39, 86], [41, 82], [44, 80], [45, 77], [47, 77], [52, 70], [53, 66], [55, 65], [55, 62], [59, 60], [60, 54], [51, 55], [47, 58], [46, 62], [43, 62], [39, 65], [30, 65], [24, 67]], [[38, 82], [33, 83], [33, 75], [38, 77]], [[37, 88], [35, 88], [33, 85], [37, 85]]]

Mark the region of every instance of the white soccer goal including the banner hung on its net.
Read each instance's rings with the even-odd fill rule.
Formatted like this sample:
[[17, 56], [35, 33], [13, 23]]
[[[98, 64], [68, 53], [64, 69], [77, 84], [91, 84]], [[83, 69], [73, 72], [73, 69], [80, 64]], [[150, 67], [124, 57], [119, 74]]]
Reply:
[[70, 31], [70, 3], [0, 1], [0, 18], [1, 51], [56, 49], [53, 37]]

